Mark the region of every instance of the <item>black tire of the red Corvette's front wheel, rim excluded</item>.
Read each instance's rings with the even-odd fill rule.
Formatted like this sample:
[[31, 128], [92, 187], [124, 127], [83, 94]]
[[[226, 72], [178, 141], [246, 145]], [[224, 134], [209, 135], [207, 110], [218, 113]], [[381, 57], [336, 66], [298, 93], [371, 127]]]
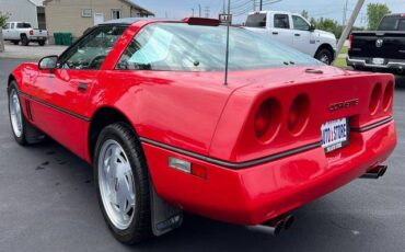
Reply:
[[[10, 111], [10, 94], [15, 91], [19, 93], [18, 85], [15, 81], [11, 81], [8, 96], [9, 96], [9, 119], [11, 125], [11, 131], [13, 133], [14, 139], [16, 142], [19, 142], [21, 146], [28, 146], [34, 144], [39, 144], [44, 140], [45, 135], [38, 130], [36, 127], [34, 127], [30, 122], [26, 121], [24, 113], [21, 115], [22, 121], [22, 134], [21, 136], [18, 136], [13, 129], [12, 122], [11, 122], [11, 111]], [[22, 106], [21, 99], [19, 95], [20, 105]]]

